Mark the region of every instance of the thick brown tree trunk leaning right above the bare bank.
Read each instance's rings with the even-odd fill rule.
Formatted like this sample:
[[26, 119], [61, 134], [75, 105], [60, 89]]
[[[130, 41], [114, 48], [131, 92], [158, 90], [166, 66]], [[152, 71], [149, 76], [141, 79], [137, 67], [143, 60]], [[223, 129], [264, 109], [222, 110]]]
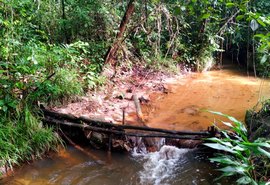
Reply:
[[130, 17], [132, 16], [134, 9], [135, 9], [135, 5], [134, 5], [135, 0], [130, 0], [128, 5], [127, 5], [127, 9], [125, 12], [125, 15], [122, 18], [121, 24], [119, 26], [119, 32], [116, 36], [116, 40], [115, 42], [112, 44], [112, 46], [109, 48], [106, 56], [105, 56], [105, 64], [109, 64], [111, 66], [115, 66], [116, 62], [115, 62], [115, 54], [117, 53], [118, 49], [119, 49], [119, 44], [121, 43], [121, 38], [123, 37], [127, 24], [130, 20]]

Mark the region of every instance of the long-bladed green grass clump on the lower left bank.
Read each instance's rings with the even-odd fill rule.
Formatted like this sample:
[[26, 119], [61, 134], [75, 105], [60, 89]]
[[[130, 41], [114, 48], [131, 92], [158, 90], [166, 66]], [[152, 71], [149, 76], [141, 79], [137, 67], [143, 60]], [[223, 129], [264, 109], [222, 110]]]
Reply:
[[26, 107], [17, 119], [0, 119], [0, 167], [13, 169], [23, 161], [42, 157], [56, 150], [60, 138]]

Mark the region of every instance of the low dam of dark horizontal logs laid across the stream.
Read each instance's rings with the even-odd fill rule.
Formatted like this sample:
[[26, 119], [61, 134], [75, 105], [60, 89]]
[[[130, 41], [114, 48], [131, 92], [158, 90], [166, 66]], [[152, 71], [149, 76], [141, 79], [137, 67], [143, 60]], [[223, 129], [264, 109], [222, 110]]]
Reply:
[[[82, 131], [80, 135], [90, 140], [92, 145], [106, 145], [109, 151], [112, 148], [119, 147], [129, 151], [135, 145], [138, 145], [137, 138], [143, 138], [144, 145], [148, 148], [154, 146], [153, 139], [155, 138], [165, 138], [166, 144], [193, 148], [201, 144], [203, 139], [213, 137], [217, 134], [217, 130], [213, 126], [200, 132], [176, 131], [146, 126], [113, 124], [112, 122], [99, 119], [84, 116], [76, 117], [47, 109], [42, 109], [42, 112], [44, 114], [43, 122], [45, 124], [53, 125], [55, 128], [61, 128], [64, 130], [64, 133], [68, 132], [69, 134], [67, 135], [69, 136], [74, 135], [76, 130], [80, 130]], [[63, 133], [62, 130], [61, 133]]]

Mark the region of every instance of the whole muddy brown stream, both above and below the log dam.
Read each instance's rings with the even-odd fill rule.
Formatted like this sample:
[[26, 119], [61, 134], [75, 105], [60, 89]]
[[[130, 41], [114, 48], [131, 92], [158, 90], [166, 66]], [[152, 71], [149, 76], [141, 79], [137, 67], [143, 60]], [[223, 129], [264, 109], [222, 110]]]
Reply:
[[[190, 74], [169, 84], [168, 96], [155, 95], [147, 124], [175, 130], [203, 130], [224, 118], [202, 112], [220, 111], [243, 121], [245, 111], [270, 96], [269, 80], [247, 77], [245, 72], [223, 70]], [[196, 149], [163, 146], [153, 153], [112, 153], [88, 148], [96, 161], [68, 146], [59, 154], [20, 167], [8, 185], [135, 185], [233, 184], [233, 179], [214, 182], [220, 174], [206, 154]], [[166, 155], [164, 155], [166, 153]], [[169, 156], [169, 157], [168, 157]]]

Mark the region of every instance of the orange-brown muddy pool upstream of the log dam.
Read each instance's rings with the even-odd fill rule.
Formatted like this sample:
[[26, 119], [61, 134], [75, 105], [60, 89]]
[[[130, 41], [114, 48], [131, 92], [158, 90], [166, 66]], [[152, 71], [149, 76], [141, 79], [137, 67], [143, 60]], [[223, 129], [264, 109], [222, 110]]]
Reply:
[[[244, 121], [246, 110], [270, 98], [270, 81], [248, 77], [233, 65], [222, 70], [194, 73], [168, 85], [169, 95], [155, 95], [147, 125], [171, 130], [205, 130], [225, 120], [205, 112], [222, 112]], [[222, 124], [217, 123], [223, 127]]]

